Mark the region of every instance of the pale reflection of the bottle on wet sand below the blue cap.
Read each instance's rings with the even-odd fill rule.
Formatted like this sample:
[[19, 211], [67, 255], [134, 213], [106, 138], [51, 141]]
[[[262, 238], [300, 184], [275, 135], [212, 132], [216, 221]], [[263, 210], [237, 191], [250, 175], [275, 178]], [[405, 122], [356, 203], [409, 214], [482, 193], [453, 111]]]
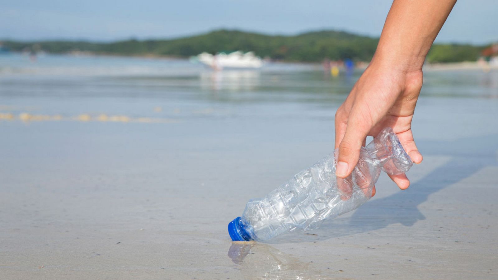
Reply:
[[254, 241], [235, 241], [230, 246], [228, 257], [241, 270], [245, 279], [317, 279], [319, 272], [308, 263], [282, 253], [277, 249]]

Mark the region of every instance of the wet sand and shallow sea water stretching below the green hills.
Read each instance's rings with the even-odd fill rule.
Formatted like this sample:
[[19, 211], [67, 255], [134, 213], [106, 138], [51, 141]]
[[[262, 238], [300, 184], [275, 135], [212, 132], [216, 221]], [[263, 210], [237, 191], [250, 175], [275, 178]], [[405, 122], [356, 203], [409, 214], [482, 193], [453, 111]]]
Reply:
[[319, 230], [232, 243], [227, 224], [333, 150], [361, 71], [0, 56], [2, 279], [498, 277], [498, 71], [426, 71], [422, 164]]

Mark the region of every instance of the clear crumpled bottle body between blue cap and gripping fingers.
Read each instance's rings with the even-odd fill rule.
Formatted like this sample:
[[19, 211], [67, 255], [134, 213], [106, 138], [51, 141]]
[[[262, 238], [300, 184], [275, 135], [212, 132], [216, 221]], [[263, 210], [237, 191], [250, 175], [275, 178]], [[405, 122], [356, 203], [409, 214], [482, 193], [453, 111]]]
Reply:
[[[376, 169], [374, 173], [380, 171], [369, 167], [367, 170]], [[252, 238], [268, 240], [286, 232], [317, 228], [324, 219], [356, 209], [372, 196], [370, 173], [364, 174], [361, 168], [355, 168], [351, 177], [338, 180], [335, 172], [336, 162], [331, 154], [264, 198], [249, 201], [242, 222], [250, 225]]]

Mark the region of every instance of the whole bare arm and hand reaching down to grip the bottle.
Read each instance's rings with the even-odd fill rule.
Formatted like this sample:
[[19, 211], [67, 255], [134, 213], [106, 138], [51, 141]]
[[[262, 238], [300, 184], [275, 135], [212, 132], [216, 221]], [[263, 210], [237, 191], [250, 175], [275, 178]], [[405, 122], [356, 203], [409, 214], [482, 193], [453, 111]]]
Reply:
[[[394, 130], [413, 162], [422, 161], [411, 132], [422, 65], [456, 1], [392, 2], [369, 67], [336, 113], [338, 178], [351, 174], [366, 137], [376, 136], [384, 127]], [[390, 177], [400, 189], [410, 185], [404, 174]]]

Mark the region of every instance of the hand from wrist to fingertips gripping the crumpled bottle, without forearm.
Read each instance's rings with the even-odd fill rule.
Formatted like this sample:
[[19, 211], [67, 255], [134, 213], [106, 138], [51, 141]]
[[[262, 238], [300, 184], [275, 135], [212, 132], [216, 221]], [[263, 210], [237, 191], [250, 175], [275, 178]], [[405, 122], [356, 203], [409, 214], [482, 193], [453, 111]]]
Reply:
[[[385, 127], [394, 130], [414, 163], [422, 161], [411, 131], [411, 120], [422, 88], [422, 79], [421, 68], [406, 71], [382, 65], [375, 58], [372, 60], [336, 112], [338, 177], [345, 178], [351, 174], [366, 137], [377, 136]], [[410, 185], [405, 174], [389, 177], [400, 189], [406, 189]], [[375, 188], [372, 193], [375, 193]]]

